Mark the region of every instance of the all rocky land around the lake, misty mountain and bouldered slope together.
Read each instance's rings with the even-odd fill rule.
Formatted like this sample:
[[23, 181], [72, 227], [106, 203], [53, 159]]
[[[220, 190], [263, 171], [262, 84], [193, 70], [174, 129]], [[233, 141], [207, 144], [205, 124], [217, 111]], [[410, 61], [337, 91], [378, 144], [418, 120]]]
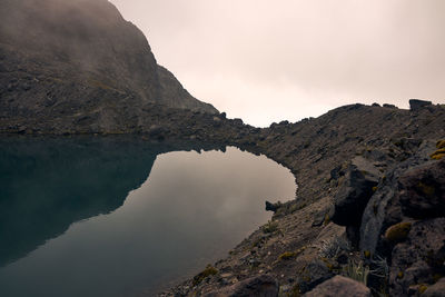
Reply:
[[160, 296], [445, 296], [445, 106], [260, 129], [191, 98], [105, 0], [1, 0], [0, 17], [0, 133], [231, 145], [294, 174], [295, 200]]

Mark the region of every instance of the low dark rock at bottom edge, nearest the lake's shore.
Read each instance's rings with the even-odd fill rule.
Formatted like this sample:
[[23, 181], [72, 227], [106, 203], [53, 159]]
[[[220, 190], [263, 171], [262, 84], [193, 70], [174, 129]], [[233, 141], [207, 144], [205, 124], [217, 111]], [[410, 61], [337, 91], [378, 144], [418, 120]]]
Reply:
[[233, 286], [214, 290], [204, 295], [204, 297], [277, 297], [278, 283], [269, 275], [260, 275], [239, 281]]

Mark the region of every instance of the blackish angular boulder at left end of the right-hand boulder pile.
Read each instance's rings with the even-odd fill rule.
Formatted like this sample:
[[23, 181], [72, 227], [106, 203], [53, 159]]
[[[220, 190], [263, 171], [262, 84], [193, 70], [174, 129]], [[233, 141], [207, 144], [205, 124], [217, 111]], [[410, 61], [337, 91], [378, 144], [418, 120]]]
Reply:
[[349, 166], [345, 181], [334, 197], [333, 221], [340, 226], [359, 226], [362, 214], [376, 185], [374, 176], [365, 176], [356, 166]]

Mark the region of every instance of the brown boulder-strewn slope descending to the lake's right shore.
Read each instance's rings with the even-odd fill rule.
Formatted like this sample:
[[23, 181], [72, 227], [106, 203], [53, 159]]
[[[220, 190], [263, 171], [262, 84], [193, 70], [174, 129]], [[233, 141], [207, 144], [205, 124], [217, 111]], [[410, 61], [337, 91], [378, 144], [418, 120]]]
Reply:
[[191, 137], [227, 139], [281, 162], [296, 177], [296, 200], [269, 205], [270, 222], [161, 296], [299, 296], [335, 275], [366, 283], [376, 296], [439, 290], [444, 106], [354, 105], [266, 129], [220, 117], [207, 122], [211, 132], [198, 126]]

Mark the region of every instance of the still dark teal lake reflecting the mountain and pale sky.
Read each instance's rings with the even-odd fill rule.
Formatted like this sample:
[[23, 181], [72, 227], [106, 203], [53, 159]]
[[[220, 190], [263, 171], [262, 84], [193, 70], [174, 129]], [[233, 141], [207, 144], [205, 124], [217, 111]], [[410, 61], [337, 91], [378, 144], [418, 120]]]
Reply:
[[295, 189], [288, 169], [234, 147], [2, 139], [0, 296], [151, 296]]

